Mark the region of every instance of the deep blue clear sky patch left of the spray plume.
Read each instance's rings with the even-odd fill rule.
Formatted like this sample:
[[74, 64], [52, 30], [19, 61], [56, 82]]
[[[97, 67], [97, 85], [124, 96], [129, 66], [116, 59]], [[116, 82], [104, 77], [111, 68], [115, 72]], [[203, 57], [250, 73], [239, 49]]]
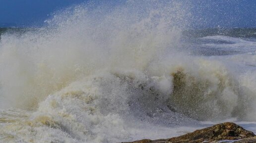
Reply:
[[0, 0], [0, 23], [41, 25], [51, 13], [84, 0]]

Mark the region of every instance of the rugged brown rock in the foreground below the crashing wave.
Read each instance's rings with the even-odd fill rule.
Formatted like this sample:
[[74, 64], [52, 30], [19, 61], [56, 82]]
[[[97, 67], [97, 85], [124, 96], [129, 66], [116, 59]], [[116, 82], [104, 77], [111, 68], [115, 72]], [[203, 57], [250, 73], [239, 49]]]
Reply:
[[256, 135], [235, 123], [226, 122], [170, 139], [144, 139], [127, 143], [217, 143], [224, 140], [235, 140], [233, 143], [256, 143]]

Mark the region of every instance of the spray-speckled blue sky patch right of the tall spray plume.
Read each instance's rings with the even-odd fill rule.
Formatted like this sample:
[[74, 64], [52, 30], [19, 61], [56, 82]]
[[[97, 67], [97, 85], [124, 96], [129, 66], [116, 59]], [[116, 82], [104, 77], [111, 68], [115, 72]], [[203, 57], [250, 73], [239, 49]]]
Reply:
[[256, 27], [256, 0], [192, 0], [196, 27]]

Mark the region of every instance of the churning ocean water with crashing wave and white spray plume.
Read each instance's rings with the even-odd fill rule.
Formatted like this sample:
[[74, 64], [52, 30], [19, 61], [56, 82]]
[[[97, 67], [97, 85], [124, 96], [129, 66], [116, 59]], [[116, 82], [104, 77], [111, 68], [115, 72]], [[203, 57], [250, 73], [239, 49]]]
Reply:
[[0, 29], [0, 142], [161, 139], [224, 121], [256, 133], [256, 29], [189, 29], [189, 7], [82, 3]]

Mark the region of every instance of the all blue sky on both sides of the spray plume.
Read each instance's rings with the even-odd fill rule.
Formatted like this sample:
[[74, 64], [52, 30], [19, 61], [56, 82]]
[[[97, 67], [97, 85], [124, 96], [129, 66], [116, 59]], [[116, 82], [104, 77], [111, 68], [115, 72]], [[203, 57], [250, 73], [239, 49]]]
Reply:
[[[54, 11], [82, 1], [0, 0], [0, 26], [40, 26]], [[187, 1], [192, 2], [193, 27], [256, 27], [256, 0]]]

